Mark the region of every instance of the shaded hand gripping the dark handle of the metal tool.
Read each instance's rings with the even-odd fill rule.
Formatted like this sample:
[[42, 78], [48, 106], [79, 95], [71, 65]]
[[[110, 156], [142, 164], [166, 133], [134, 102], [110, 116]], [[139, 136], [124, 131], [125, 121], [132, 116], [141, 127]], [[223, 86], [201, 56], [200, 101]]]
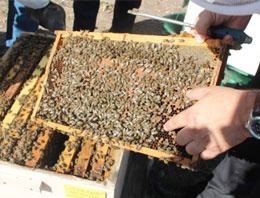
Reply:
[[[227, 16], [210, 12], [202, 11], [196, 19], [195, 28], [191, 30], [191, 34], [199, 43], [204, 42], [208, 36], [208, 28], [211, 26], [224, 25], [230, 28], [244, 30], [251, 18], [251, 15], [246, 16]], [[231, 35], [224, 37], [225, 41], [233, 41]]]

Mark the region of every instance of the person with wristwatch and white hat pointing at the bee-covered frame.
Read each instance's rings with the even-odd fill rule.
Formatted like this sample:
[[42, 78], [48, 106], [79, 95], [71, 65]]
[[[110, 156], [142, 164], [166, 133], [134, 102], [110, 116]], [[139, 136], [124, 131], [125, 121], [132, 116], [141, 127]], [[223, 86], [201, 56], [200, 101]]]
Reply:
[[[259, 0], [193, 1], [206, 9], [192, 31], [198, 42], [209, 38], [210, 26], [243, 30], [251, 15], [260, 12]], [[259, 78], [257, 73], [254, 82]], [[260, 84], [253, 85], [249, 90], [218, 86], [190, 90], [187, 97], [197, 102], [164, 125], [166, 131], [181, 128], [176, 142], [191, 155], [207, 160], [227, 151], [198, 198], [260, 197]]]

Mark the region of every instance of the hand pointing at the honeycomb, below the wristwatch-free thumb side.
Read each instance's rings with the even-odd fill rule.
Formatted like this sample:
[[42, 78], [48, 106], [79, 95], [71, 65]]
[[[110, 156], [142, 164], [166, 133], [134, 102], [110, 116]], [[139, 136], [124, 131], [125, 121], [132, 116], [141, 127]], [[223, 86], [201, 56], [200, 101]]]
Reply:
[[177, 133], [177, 144], [186, 146], [186, 151], [191, 155], [200, 153], [203, 159], [215, 158], [251, 137], [245, 124], [256, 95], [256, 90], [224, 87], [191, 90], [187, 96], [198, 101], [168, 120], [164, 129], [172, 131], [182, 128]]

